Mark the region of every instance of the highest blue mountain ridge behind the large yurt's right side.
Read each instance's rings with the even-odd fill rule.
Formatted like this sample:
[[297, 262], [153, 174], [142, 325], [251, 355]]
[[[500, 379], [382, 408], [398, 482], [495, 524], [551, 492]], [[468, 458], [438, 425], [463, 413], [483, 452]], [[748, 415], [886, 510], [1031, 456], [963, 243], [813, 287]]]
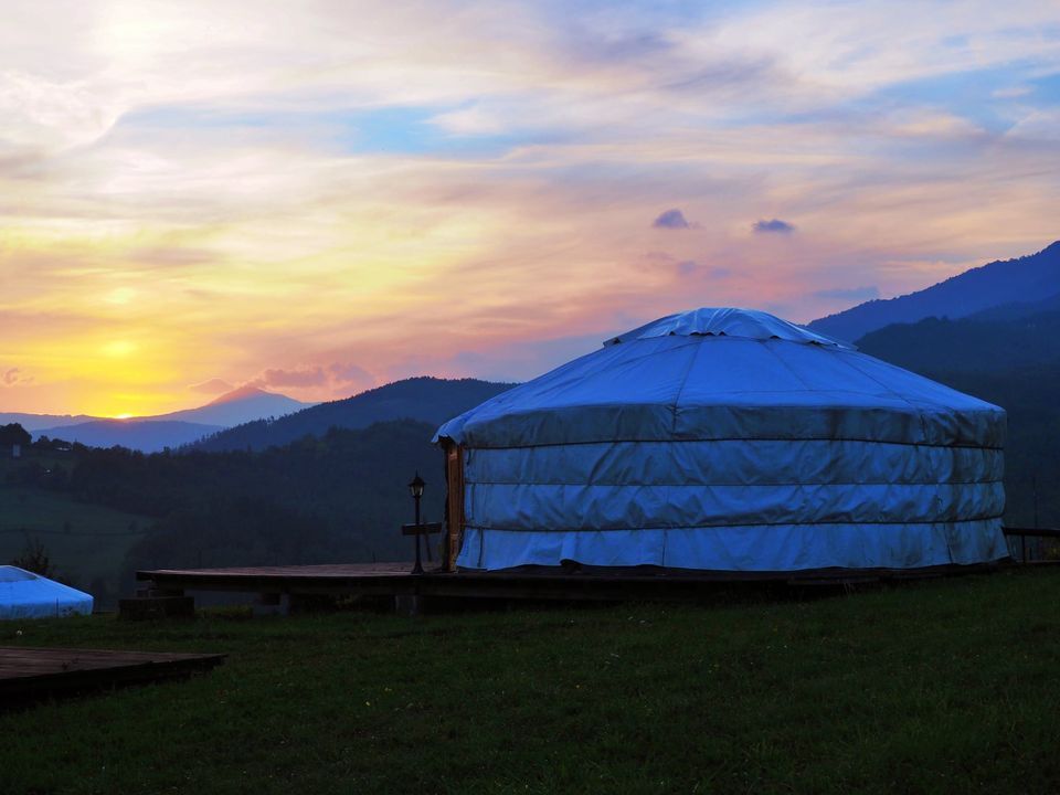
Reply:
[[1016, 259], [988, 263], [926, 289], [871, 300], [814, 320], [808, 328], [842, 340], [857, 340], [891, 324], [928, 317], [962, 318], [1005, 304], [1040, 301], [1060, 294], [1060, 241]]

